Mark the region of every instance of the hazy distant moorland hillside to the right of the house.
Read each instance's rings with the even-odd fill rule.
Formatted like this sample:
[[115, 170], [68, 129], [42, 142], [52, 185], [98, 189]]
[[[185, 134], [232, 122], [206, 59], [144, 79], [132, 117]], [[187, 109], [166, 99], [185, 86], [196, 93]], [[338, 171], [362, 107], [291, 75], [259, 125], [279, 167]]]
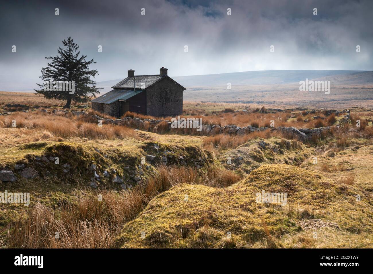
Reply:
[[[267, 70], [220, 75], [174, 79], [187, 88], [184, 91], [185, 101], [326, 108], [360, 105], [373, 108], [373, 71]], [[306, 78], [330, 81], [330, 94], [323, 91], [301, 92], [299, 82]], [[215, 84], [209, 84], [212, 79], [216, 79]], [[231, 89], [227, 89], [228, 82], [232, 84]], [[193, 86], [198, 84], [200, 86]]]

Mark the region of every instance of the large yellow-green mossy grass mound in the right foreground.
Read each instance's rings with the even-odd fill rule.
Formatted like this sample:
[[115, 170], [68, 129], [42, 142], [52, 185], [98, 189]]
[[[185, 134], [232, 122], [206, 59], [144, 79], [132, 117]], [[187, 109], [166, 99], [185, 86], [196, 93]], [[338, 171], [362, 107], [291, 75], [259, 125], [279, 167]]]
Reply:
[[[257, 202], [263, 190], [286, 192], [286, 206]], [[313, 171], [264, 165], [229, 188], [178, 185], [156, 196], [124, 226], [116, 246], [372, 247], [372, 205], [371, 193]]]

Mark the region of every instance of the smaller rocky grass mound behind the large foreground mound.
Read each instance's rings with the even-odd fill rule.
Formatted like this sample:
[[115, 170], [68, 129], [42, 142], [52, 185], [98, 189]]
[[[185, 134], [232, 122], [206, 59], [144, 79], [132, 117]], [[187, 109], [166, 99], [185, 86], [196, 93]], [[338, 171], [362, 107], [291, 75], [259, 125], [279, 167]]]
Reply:
[[[296, 140], [281, 138], [255, 139], [224, 153], [220, 161], [226, 169], [241, 169], [246, 173], [263, 164], [300, 165], [315, 150]], [[228, 160], [230, 159], [230, 163]]]

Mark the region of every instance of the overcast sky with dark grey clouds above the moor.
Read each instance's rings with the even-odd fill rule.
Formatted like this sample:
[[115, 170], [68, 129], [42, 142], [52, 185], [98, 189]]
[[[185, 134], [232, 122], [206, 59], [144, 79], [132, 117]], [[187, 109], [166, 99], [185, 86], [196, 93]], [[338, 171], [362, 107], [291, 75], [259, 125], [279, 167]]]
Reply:
[[91, 66], [98, 70], [97, 81], [125, 78], [128, 69], [158, 74], [161, 66], [170, 76], [373, 70], [372, 0], [12, 0], [1, 5], [0, 90], [40, 82], [44, 57], [55, 56], [69, 36], [87, 59], [97, 61]]

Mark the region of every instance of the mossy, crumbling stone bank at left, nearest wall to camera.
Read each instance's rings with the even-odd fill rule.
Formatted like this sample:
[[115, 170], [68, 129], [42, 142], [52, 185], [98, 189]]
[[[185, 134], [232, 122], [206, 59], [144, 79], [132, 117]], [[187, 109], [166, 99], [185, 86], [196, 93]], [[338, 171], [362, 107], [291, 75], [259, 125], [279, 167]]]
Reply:
[[[57, 110], [53, 110], [51, 115], [56, 113]], [[66, 113], [69, 114], [67, 111]], [[72, 113], [77, 116], [88, 115], [85, 111]], [[145, 162], [142, 162], [142, 156], [145, 157]], [[59, 164], [55, 164], [56, 157], [59, 158]], [[79, 169], [76, 169], [76, 164], [79, 164]], [[214, 164], [214, 157], [198, 146], [177, 146], [151, 141], [142, 142], [140, 151], [123, 151], [120, 157], [108, 148], [58, 142], [51, 146], [44, 145], [41, 155], [39, 152], [31, 153], [18, 159], [16, 163], [0, 162], [0, 185], [4, 187], [2, 182], [39, 182], [59, 177], [64, 183], [86, 182], [91, 188], [100, 186], [117, 190], [129, 189], [143, 184], [144, 179], [160, 164], [201, 168]]]

